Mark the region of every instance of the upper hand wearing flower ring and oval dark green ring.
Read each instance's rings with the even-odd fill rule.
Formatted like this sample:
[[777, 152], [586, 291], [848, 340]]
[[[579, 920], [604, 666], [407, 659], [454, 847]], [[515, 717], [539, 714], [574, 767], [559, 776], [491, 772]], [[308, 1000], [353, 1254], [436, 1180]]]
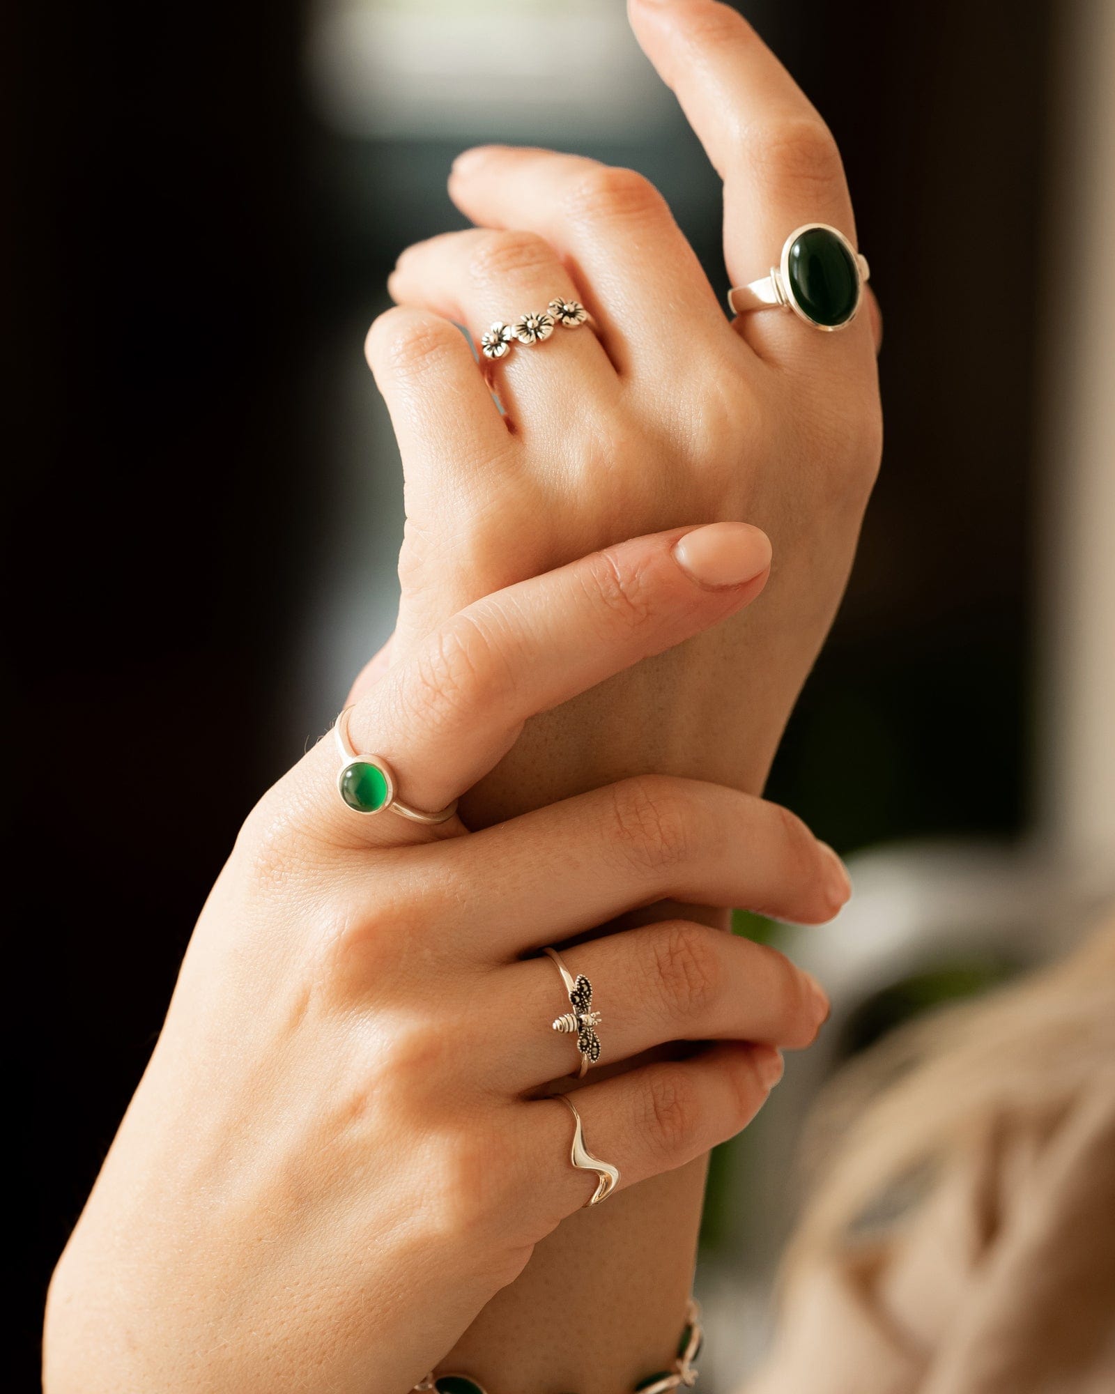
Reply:
[[[723, 177], [733, 284], [765, 275], [801, 223], [854, 241], [832, 137], [744, 20], [709, 0], [633, 0], [630, 14]], [[580, 156], [470, 151], [449, 190], [478, 227], [403, 254], [400, 307], [367, 346], [407, 475], [396, 651], [633, 528], [747, 519], [778, 558], [747, 615], [531, 723], [466, 818], [647, 768], [758, 790], [878, 468], [874, 301], [839, 333], [786, 311], [729, 323], [661, 195]], [[498, 361], [500, 417], [449, 321], [479, 337], [553, 297], [581, 301], [597, 329]]]

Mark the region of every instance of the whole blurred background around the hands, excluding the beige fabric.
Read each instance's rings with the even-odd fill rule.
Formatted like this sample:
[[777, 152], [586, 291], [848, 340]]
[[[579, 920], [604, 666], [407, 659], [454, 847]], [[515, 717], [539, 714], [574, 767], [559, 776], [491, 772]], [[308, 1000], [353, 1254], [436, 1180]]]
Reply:
[[[715, 1157], [711, 1391], [762, 1347], [817, 1087], [1058, 952], [1115, 863], [1115, 6], [740, 8], [845, 155], [886, 452], [769, 788], [857, 895], [808, 937], [739, 923], [835, 1013]], [[31, 1387], [50, 1269], [206, 889], [392, 629], [401, 481], [362, 337], [399, 251], [461, 226], [452, 158], [495, 138], [633, 166], [726, 280], [718, 181], [620, 0], [26, 4], [7, 28]]]

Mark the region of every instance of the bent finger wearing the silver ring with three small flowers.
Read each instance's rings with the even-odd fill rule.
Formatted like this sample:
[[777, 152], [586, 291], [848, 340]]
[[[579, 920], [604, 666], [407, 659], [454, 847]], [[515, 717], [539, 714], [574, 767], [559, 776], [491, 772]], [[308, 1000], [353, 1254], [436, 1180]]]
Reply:
[[[551, 315], [553, 300], [581, 302], [555, 250], [532, 231], [468, 229], [443, 233], [407, 248], [387, 280], [392, 296], [468, 325], [478, 346], [489, 329], [503, 329], [503, 351], [484, 358], [516, 428], [553, 431], [573, 418], [585, 392], [615, 379], [608, 354], [587, 323], [567, 328], [541, 319], [545, 339], [524, 344], [514, 330], [527, 312]], [[551, 318], [553, 318], [551, 315]]]

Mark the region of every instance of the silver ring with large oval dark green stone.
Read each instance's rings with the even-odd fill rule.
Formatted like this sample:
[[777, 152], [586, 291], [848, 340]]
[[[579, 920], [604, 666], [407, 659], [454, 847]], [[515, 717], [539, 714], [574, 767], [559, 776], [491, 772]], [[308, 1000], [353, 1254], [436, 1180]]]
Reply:
[[856, 318], [871, 269], [852, 243], [828, 223], [796, 227], [782, 244], [771, 275], [728, 293], [733, 315], [792, 309], [814, 329], [832, 333]]

